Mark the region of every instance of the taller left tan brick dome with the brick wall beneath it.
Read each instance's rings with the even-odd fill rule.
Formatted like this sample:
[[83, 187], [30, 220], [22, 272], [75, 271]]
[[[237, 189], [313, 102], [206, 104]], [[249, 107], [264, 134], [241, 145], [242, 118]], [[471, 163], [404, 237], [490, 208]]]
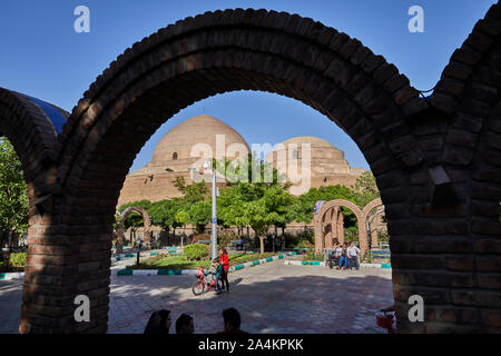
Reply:
[[[160, 139], [149, 164], [127, 175], [118, 206], [143, 199], [157, 201], [179, 197], [181, 194], [174, 186], [177, 177], [183, 177], [186, 184], [210, 182], [212, 175], [203, 171], [200, 165], [207, 155], [196, 149], [200, 145], [209, 148], [213, 157], [218, 159], [233, 160], [250, 152], [244, 138], [225, 122], [208, 115], [187, 119]], [[224, 182], [218, 177], [218, 185]]]

